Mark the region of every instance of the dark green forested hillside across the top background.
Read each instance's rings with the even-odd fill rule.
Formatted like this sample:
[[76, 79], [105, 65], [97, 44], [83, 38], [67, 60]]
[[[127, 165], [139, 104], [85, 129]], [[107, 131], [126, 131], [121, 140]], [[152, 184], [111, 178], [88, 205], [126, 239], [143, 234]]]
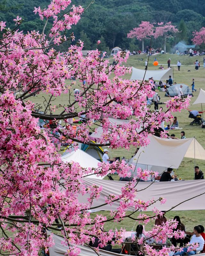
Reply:
[[[24, 32], [42, 31], [45, 21], [33, 13], [34, 7], [45, 8], [49, 0], [0, 0], [0, 18], [12, 28], [12, 20], [17, 15], [24, 19], [20, 30]], [[87, 7], [91, 0], [73, 0], [72, 4]], [[127, 33], [137, 27], [141, 21], [169, 22], [171, 21], [182, 31], [174, 38], [168, 39], [167, 49], [175, 43], [184, 40], [192, 44], [192, 32], [205, 26], [204, 0], [95, 0], [83, 13], [77, 26], [72, 27], [76, 41], [84, 41], [84, 49], [98, 49], [110, 51], [114, 46], [131, 51], [142, 48], [140, 41], [128, 39]], [[51, 24], [50, 24], [51, 25]], [[72, 32], [70, 31], [70, 32]], [[101, 44], [97, 46], [97, 40]], [[63, 48], [69, 46], [69, 42]], [[145, 41], [145, 45], [149, 40]], [[162, 47], [163, 40], [152, 41], [152, 47]], [[62, 49], [63, 50], [63, 49]]]

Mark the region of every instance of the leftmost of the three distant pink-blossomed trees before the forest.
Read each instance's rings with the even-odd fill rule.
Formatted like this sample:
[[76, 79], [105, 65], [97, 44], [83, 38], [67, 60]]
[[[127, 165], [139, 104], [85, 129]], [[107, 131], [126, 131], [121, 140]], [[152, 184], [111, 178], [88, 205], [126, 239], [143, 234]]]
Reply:
[[154, 35], [153, 28], [154, 26], [149, 21], [142, 21], [137, 28], [134, 28], [127, 34], [127, 37], [136, 37], [138, 40], [142, 41], [142, 51], [144, 51], [144, 40]]

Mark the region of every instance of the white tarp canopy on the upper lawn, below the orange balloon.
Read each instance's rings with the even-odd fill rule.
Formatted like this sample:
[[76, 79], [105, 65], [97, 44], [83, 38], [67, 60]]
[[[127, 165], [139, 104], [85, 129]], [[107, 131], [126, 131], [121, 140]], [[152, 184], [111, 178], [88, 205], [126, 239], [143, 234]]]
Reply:
[[173, 75], [172, 68], [168, 68], [165, 70], [147, 70], [145, 77], [145, 70], [144, 69], [138, 69], [135, 67], [132, 67], [132, 76], [130, 80], [148, 80], [150, 77], [153, 77], [154, 80], [167, 80], [169, 79], [169, 75]]

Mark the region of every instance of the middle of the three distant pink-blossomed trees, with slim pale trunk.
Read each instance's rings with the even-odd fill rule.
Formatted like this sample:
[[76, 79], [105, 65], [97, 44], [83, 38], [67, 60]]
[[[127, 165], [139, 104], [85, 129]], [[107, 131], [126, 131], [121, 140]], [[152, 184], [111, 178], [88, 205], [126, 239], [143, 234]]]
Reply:
[[173, 36], [174, 33], [179, 32], [176, 26], [172, 25], [171, 22], [158, 23], [158, 27], [155, 29], [154, 38], [163, 37], [164, 38], [164, 52], [166, 53], [166, 39]]

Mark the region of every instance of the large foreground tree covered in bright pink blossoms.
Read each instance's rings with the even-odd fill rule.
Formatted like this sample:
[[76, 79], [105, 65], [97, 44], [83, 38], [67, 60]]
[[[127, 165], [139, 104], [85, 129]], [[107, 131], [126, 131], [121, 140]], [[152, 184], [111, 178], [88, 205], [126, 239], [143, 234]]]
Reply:
[[[95, 237], [102, 246], [110, 241], [114, 231], [104, 230], [104, 223], [127, 217], [129, 207], [135, 207], [132, 213], [135, 220], [145, 223], [162, 214], [157, 209], [151, 217], [137, 214], [155, 201], [165, 202], [162, 198], [151, 198], [148, 202], [135, 198], [136, 179], [154, 174], [139, 168], [120, 195], [111, 193], [105, 199], [104, 203], [111, 205], [119, 201], [117, 211], [111, 212], [110, 217], [102, 214], [91, 217], [87, 210], [98, 208], [93, 207], [93, 200], [99, 197], [102, 188], [95, 181], [85, 186], [83, 176], [117, 172], [120, 177], [126, 177], [131, 175], [131, 167], [124, 161], [116, 161], [86, 170], [77, 163], [62, 162], [58, 151], [62, 145], [75, 148], [79, 142], [92, 145], [89, 131], [95, 129], [94, 120], [96, 127], [102, 126], [103, 130], [95, 146], [126, 149], [132, 145], [145, 146], [161, 122], [170, 121], [171, 112], [188, 107], [189, 98], [174, 97], [166, 103], [166, 112], [152, 111], [146, 104], [147, 97], [153, 96], [152, 84], [124, 78], [131, 72], [123, 65], [129, 53], [118, 52], [114, 56], [116, 65], [112, 66], [100, 57], [98, 50], [83, 57], [81, 41], [64, 53], [56, 50], [63, 42], [74, 40], [71, 32], [70, 36], [66, 33], [84, 11], [81, 6], [70, 7], [70, 4], [70, 0], [53, 0], [46, 9], [35, 8], [35, 13], [45, 22], [42, 33], [23, 34], [20, 30], [23, 21], [18, 16], [13, 31], [6, 28], [5, 22], [0, 23], [4, 32], [0, 39], [0, 229], [3, 234], [0, 254], [36, 256], [41, 248], [47, 251], [53, 239], [45, 235], [44, 228], [57, 231], [57, 226], [61, 226], [64, 244], [69, 246], [67, 254], [75, 256], [79, 254], [78, 244], [89, 243]], [[53, 20], [53, 25], [45, 34], [48, 20]], [[74, 95], [75, 88], [80, 93]], [[64, 94], [67, 104], [56, 104], [56, 98]], [[37, 99], [41, 100], [34, 103]], [[76, 131], [71, 120], [80, 116], [84, 122]], [[108, 116], [129, 118], [129, 121], [111, 126]], [[39, 119], [45, 120], [43, 130]], [[79, 195], [86, 196], [87, 203], [81, 203]], [[59, 223], [55, 222], [57, 219]], [[170, 220], [162, 227], [154, 227], [150, 236], [165, 241], [175, 227], [176, 222]], [[183, 232], [175, 235], [181, 237]], [[116, 241], [122, 242], [121, 232]], [[169, 250], [155, 252], [150, 247], [144, 248], [151, 255], [162, 255]]]

